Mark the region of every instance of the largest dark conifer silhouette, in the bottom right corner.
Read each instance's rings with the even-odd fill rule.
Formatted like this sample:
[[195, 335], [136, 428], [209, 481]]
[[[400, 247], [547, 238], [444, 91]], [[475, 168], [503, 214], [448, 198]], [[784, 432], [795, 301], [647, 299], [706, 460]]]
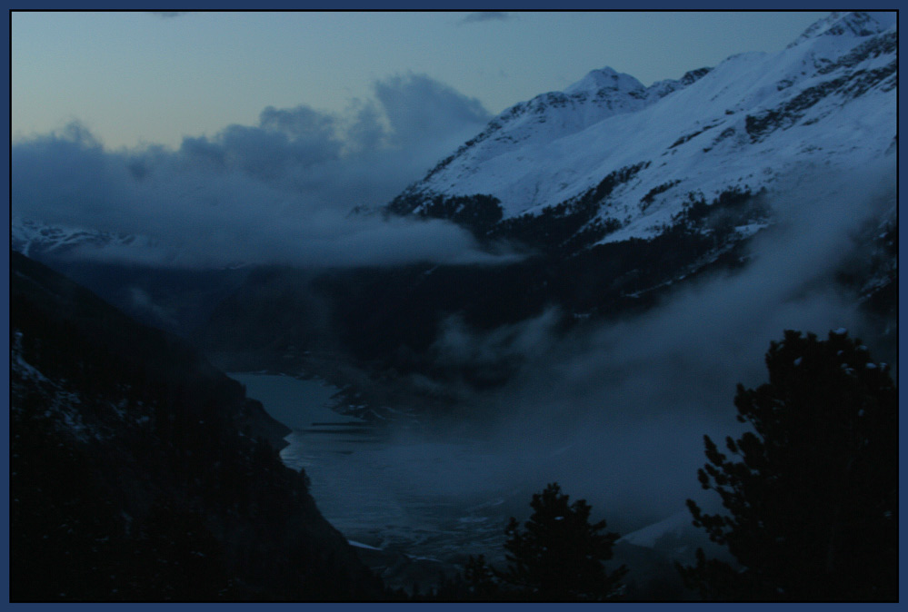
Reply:
[[738, 385], [752, 431], [705, 438], [698, 476], [730, 516], [693, 524], [740, 568], [698, 551], [679, 570], [704, 598], [845, 601], [898, 598], [897, 390], [883, 363], [843, 330], [826, 341], [785, 331], [766, 354], [769, 382]]

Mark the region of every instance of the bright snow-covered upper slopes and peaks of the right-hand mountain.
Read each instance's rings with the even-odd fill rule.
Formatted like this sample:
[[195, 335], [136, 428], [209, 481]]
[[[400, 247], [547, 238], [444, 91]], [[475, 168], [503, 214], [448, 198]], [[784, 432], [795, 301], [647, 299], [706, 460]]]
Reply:
[[594, 70], [505, 110], [390, 210], [457, 219], [482, 194], [498, 210], [484, 201], [470, 216], [506, 222], [572, 214], [593, 199], [582, 227], [598, 231], [587, 245], [652, 237], [689, 192], [706, 203], [772, 192], [799, 165], [894, 155], [897, 78], [894, 13], [833, 13], [783, 51], [734, 55], [649, 87]]

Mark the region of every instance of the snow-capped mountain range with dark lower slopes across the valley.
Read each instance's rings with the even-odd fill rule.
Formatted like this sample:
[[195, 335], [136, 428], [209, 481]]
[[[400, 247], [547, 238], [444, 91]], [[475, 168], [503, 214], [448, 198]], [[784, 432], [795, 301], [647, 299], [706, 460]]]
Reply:
[[[65, 258], [54, 254], [100, 247], [65, 272], [149, 324], [175, 321], [167, 329], [199, 338], [205, 350], [242, 352], [230, 367], [343, 353], [369, 368], [494, 386], [519, 367], [519, 355], [505, 350], [494, 367], [437, 363], [448, 317], [471, 330], [504, 330], [506, 339], [553, 307], [570, 325], [624, 317], [685, 283], [741, 268], [753, 257], [747, 239], [775, 222], [780, 201], [797, 203], [772, 197], [789, 173], [882, 162], [894, 176], [897, 78], [893, 13], [831, 14], [777, 53], [735, 55], [649, 87], [604, 68], [515, 104], [384, 207], [458, 222], [491, 248], [529, 247], [530, 256], [497, 266], [124, 273], [108, 255], [147, 239], [16, 219], [13, 248], [61, 268]], [[870, 191], [860, 178], [857, 189]], [[846, 228], [847, 245], [835, 234], [835, 262], [816, 262], [815, 240], [805, 242], [811, 258], [803, 262], [834, 266], [804, 282], [851, 291], [890, 339], [895, 213], [893, 192]], [[164, 258], [153, 259], [149, 268]], [[109, 265], [91, 267], [98, 262]]]

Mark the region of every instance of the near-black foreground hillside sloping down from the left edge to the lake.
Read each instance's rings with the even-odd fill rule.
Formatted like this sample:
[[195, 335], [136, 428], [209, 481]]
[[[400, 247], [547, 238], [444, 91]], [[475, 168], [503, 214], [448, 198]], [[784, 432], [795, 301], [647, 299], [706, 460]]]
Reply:
[[11, 600], [381, 596], [238, 382], [11, 257]]

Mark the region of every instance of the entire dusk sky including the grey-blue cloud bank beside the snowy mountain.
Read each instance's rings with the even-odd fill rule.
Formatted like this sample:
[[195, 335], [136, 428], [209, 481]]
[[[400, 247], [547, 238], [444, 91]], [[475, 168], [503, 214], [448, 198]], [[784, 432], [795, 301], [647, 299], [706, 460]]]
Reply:
[[176, 267], [507, 262], [384, 206], [508, 106], [776, 52], [825, 13], [15, 12], [12, 212]]

